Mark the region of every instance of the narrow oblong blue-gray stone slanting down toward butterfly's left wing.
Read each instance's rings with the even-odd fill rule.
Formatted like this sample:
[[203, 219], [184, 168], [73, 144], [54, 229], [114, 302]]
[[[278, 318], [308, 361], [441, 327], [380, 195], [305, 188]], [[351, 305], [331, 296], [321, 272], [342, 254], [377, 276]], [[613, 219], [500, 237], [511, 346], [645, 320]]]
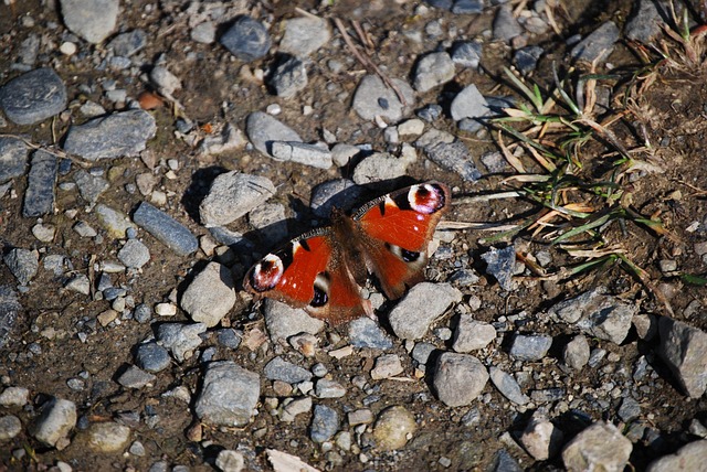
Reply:
[[199, 242], [189, 228], [147, 202], [138, 205], [133, 221], [180, 256], [199, 249]]

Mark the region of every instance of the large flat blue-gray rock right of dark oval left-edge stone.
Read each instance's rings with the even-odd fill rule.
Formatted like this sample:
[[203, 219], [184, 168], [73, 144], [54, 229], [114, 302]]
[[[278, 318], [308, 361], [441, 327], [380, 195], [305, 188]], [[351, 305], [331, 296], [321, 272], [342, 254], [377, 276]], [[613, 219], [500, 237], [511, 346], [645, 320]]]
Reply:
[[147, 111], [118, 111], [72, 126], [64, 151], [89, 161], [137, 155], [156, 132], [155, 118]]

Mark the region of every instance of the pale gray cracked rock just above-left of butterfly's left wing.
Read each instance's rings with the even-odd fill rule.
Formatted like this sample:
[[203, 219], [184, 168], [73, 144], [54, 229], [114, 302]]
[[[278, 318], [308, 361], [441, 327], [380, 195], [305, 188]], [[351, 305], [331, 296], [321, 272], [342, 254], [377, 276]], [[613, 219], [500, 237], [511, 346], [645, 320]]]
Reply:
[[239, 171], [223, 173], [213, 180], [199, 205], [201, 224], [207, 227], [228, 225], [274, 194], [275, 185], [267, 178]]

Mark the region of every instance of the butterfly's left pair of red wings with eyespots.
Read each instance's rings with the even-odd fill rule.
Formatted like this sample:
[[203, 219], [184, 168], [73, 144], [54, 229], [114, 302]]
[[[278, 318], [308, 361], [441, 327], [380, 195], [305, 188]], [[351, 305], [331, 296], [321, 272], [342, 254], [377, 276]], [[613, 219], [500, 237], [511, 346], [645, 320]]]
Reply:
[[330, 228], [293, 239], [257, 261], [243, 287], [257, 298], [272, 298], [338, 324], [370, 312], [359, 287], [342, 264]]

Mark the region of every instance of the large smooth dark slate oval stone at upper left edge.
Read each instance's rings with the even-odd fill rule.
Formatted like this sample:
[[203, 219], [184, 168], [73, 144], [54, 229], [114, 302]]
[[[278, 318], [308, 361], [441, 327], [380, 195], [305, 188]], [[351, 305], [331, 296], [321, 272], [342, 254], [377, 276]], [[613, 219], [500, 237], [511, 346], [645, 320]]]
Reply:
[[0, 108], [17, 125], [34, 125], [66, 108], [66, 87], [51, 68], [36, 68], [0, 88]]

